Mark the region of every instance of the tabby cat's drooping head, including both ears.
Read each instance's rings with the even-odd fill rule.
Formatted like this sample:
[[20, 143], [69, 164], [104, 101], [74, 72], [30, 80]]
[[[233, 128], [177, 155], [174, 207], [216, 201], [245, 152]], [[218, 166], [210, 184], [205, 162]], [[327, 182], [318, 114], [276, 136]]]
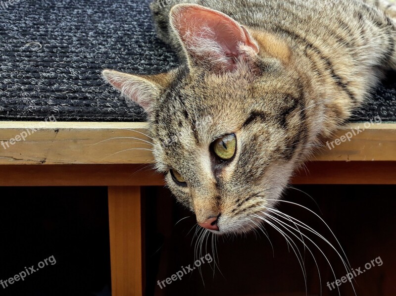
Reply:
[[170, 13], [186, 65], [103, 75], [147, 111], [156, 167], [198, 223], [246, 231], [280, 197], [309, 141], [306, 85], [281, 41], [199, 5]]

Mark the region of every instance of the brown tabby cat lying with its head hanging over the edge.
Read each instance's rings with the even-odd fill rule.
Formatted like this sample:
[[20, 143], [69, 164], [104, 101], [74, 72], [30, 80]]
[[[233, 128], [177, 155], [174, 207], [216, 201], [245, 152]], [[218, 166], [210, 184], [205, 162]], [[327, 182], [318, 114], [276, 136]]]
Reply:
[[200, 226], [243, 233], [293, 172], [396, 67], [384, 0], [155, 0], [158, 37], [183, 59], [103, 77], [148, 114], [158, 171]]

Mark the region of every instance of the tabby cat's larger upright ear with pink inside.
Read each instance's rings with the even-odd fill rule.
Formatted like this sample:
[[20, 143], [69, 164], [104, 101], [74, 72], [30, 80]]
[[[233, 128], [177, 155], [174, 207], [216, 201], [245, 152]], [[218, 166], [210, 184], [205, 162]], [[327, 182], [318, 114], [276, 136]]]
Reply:
[[189, 62], [211, 70], [231, 71], [238, 60], [247, 60], [259, 50], [246, 28], [217, 10], [178, 4], [170, 11], [170, 23], [184, 45]]

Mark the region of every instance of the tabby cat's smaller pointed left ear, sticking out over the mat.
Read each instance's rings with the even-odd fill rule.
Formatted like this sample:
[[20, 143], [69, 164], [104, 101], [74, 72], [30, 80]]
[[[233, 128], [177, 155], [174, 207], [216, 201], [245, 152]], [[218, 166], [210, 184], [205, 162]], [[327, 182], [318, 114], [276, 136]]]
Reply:
[[159, 97], [161, 89], [168, 83], [168, 75], [165, 73], [138, 76], [105, 69], [102, 75], [122, 95], [128, 100], [138, 103], [148, 114], [155, 100]]

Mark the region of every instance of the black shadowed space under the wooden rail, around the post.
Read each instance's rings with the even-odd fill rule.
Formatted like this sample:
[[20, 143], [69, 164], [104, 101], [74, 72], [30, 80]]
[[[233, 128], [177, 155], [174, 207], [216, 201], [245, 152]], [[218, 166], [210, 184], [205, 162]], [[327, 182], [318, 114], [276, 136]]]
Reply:
[[[302, 204], [319, 214], [344, 248], [354, 269], [381, 257], [383, 264], [356, 277], [358, 296], [396, 295], [396, 207], [395, 186], [298, 186], [285, 200]], [[110, 296], [109, 238], [106, 188], [1, 188], [0, 279], [6, 280], [25, 266], [54, 256], [48, 265], [25, 280], [15, 282], [4, 296]], [[218, 238], [217, 251], [211, 238], [202, 244], [202, 256], [214, 262], [201, 265], [166, 285], [166, 280], [194, 263], [195, 217], [178, 205], [164, 188], [146, 188], [145, 257], [147, 296], [304, 296], [301, 267], [293, 249], [269, 225], [263, 233], [235, 238]], [[334, 246], [337, 242], [326, 226], [309, 211], [282, 203], [279, 210], [317, 230]], [[188, 217], [179, 223], [180, 219]], [[177, 224], [176, 224], [177, 223]], [[176, 224], [176, 225], [175, 225]], [[190, 231], [191, 230], [191, 231]], [[326, 283], [346, 271], [337, 253], [321, 239], [303, 231], [304, 241], [314, 254], [322, 280], [322, 295], [338, 295]], [[290, 234], [289, 234], [290, 235]], [[290, 235], [293, 237], [292, 235]], [[309, 241], [309, 239], [312, 242]], [[308, 249], [294, 237], [304, 258], [308, 295], [320, 295], [318, 271]], [[272, 248], [273, 247], [273, 248]], [[336, 247], [341, 251], [340, 247]], [[218, 257], [218, 258], [217, 258]], [[362, 268], [363, 270], [364, 268]], [[340, 286], [342, 296], [352, 296], [351, 286]]]

